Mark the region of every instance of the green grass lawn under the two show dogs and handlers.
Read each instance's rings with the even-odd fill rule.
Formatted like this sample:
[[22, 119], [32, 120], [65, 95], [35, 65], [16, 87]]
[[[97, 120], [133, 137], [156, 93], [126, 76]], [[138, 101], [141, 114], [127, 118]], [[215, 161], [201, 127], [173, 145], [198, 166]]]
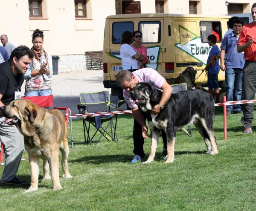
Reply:
[[[243, 134], [241, 115], [227, 116], [223, 139], [222, 107], [215, 108], [214, 130], [218, 154], [206, 154], [199, 133], [193, 138], [177, 131], [176, 161], [165, 164], [159, 141], [154, 162], [130, 164], [133, 158], [131, 115], [118, 116], [119, 143], [104, 137], [98, 145], [85, 145], [81, 120], [73, 121], [74, 148], [69, 169], [73, 179], [60, 178], [63, 190], [53, 191], [43, 181], [42, 162], [38, 191], [24, 194], [29, 186], [0, 185], [1, 209], [158, 211], [158, 210], [256, 210], [255, 122], [253, 133]], [[145, 159], [150, 140], [145, 140]], [[27, 158], [26, 152], [23, 158]], [[144, 159], [144, 160], [145, 160]], [[62, 170], [60, 166], [60, 175]], [[0, 166], [0, 175], [3, 166]], [[17, 173], [30, 182], [29, 162], [20, 162]]]

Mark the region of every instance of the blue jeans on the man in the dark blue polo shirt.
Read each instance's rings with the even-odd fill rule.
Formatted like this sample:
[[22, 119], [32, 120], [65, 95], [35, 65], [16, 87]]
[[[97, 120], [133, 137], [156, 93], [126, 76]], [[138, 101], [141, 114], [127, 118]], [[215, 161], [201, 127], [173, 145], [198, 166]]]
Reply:
[[[240, 101], [242, 98], [242, 76], [243, 69], [240, 68], [226, 68], [225, 82], [226, 82], [226, 97], [227, 101]], [[227, 110], [239, 111], [241, 106], [229, 105]]]

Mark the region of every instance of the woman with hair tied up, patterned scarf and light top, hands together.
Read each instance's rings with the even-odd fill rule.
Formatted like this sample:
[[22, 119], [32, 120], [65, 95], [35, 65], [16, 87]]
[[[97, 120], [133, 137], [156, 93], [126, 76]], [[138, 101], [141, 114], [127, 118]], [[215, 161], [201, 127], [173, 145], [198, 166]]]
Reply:
[[44, 32], [36, 29], [32, 35], [35, 57], [25, 74], [26, 91], [25, 96], [47, 96], [52, 94], [51, 81], [52, 77], [52, 55], [43, 49]]

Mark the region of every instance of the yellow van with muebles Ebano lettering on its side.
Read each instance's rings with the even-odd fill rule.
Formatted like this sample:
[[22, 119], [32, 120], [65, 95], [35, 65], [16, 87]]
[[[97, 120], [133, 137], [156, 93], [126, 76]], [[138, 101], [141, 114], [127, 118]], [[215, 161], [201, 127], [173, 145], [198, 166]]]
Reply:
[[[207, 36], [212, 34], [215, 27], [219, 28], [221, 40], [227, 32], [226, 15], [197, 15], [197, 14], [119, 14], [106, 18], [103, 68], [104, 87], [111, 88], [111, 94], [122, 96], [122, 89], [116, 84], [116, 75], [122, 70], [120, 43], [125, 31], [141, 31], [142, 44], [147, 47], [147, 66], [155, 69], [164, 78], [177, 78], [188, 66], [196, 71], [196, 85], [207, 84], [203, 73], [211, 46]], [[224, 88], [225, 74], [218, 75], [220, 87]]]

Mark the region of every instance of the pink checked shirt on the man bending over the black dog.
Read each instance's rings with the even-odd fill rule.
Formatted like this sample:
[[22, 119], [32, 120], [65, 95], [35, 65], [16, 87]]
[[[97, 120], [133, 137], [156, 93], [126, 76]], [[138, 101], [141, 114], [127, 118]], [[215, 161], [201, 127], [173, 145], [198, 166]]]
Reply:
[[[163, 83], [166, 81], [156, 70], [152, 68], [143, 68], [132, 72], [139, 82], [146, 82], [157, 89], [162, 88]], [[131, 98], [130, 93], [127, 90], [123, 90], [123, 96], [130, 108], [136, 108], [137, 105]]]

